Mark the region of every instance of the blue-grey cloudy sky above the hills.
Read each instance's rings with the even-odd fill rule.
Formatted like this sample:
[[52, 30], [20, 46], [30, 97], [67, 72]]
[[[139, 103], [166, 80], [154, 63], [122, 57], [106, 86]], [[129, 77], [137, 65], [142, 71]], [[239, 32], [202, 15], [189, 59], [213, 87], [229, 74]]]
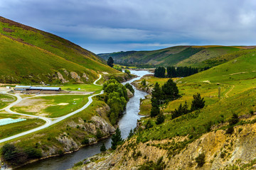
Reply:
[[96, 54], [256, 45], [255, 0], [0, 0], [0, 16]]

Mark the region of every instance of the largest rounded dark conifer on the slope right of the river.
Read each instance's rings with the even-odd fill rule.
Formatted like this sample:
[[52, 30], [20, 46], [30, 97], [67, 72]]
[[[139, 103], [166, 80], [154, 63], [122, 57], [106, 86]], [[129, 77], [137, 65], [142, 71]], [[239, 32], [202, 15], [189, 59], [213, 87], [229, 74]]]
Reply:
[[178, 98], [178, 87], [172, 79], [166, 81], [166, 83], [161, 87], [161, 90], [163, 91], [164, 98], [166, 99], [174, 100], [175, 98]]

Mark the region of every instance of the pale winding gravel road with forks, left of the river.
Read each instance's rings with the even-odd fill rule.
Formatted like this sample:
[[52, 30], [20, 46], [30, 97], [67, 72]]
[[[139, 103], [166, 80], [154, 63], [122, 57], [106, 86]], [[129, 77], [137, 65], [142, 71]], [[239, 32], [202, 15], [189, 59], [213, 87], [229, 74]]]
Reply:
[[[93, 84], [98, 85], [98, 84], [96, 84], [96, 82], [97, 82], [98, 80], [100, 80], [101, 78], [102, 78], [102, 75], [100, 74], [100, 77], [99, 77], [97, 80], [95, 80], [95, 81], [93, 82]], [[100, 85], [98, 85], [98, 86], [100, 86]], [[104, 92], [104, 91], [100, 91], [100, 94], [103, 94], [103, 92]], [[5, 93], [6, 93], [6, 91], [5, 91]], [[16, 134], [16, 135], [13, 135], [13, 136], [11, 136], [11, 137], [6, 137], [6, 138], [0, 140], [0, 143], [6, 142], [6, 141], [8, 141], [8, 140], [13, 140], [13, 139], [15, 139], [16, 137], [21, 137], [21, 136], [23, 136], [23, 135], [28, 135], [28, 134], [31, 133], [31, 132], [36, 132], [36, 131], [38, 131], [38, 130], [43, 130], [43, 129], [45, 129], [45, 128], [48, 128], [50, 125], [54, 125], [55, 123], [58, 123], [58, 122], [60, 122], [61, 120], [64, 120], [64, 119], [70, 117], [71, 115], [75, 115], [76, 113], [79, 113], [80, 111], [83, 111], [83, 110], [85, 110], [85, 108], [87, 108], [88, 106], [90, 106], [90, 104], [92, 103], [92, 97], [93, 97], [93, 96], [97, 96], [97, 95], [100, 95], [100, 94], [94, 94], [94, 95], [92, 95], [92, 96], [89, 96], [89, 97], [88, 97], [89, 101], [85, 104], [85, 106], [82, 106], [82, 108], [79, 108], [78, 110], [73, 111], [73, 112], [71, 112], [71, 113], [68, 113], [67, 115], [63, 115], [63, 116], [61, 116], [61, 117], [59, 117], [59, 118], [46, 118], [46, 117], [43, 117], [43, 116], [27, 115], [27, 114], [16, 113], [16, 112], [14, 112], [14, 111], [11, 111], [11, 109], [10, 109], [11, 107], [13, 107], [14, 105], [16, 105], [17, 103], [19, 103], [19, 102], [21, 102], [21, 101], [23, 100], [23, 98], [21, 98], [21, 96], [19, 96], [18, 94], [15, 94], [15, 95], [11, 94], [12, 96], [16, 96], [17, 100], [16, 100], [14, 103], [11, 103], [9, 106], [6, 106], [6, 108], [2, 108], [0, 111], [6, 111], [8, 114], [11, 113], [11, 114], [15, 114], [15, 115], [26, 115], [26, 116], [33, 117], [33, 118], [40, 118], [40, 119], [42, 119], [42, 120], [45, 120], [46, 123], [45, 123], [44, 125], [41, 125], [41, 126], [38, 127], [38, 128], [34, 128], [34, 129], [28, 130], [28, 131], [26, 131], [26, 132], [21, 132], [21, 133], [18, 133], [18, 134]]]

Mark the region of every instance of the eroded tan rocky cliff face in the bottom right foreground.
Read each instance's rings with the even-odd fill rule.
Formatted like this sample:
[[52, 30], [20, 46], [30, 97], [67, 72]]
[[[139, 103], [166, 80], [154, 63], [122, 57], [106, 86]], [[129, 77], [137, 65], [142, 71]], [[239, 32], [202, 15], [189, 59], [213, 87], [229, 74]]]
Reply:
[[[231, 135], [224, 130], [208, 132], [180, 151], [170, 151], [171, 146], [178, 148], [178, 144], [186, 140], [188, 137], [176, 137], [137, 144], [136, 139], [131, 139], [112, 154], [107, 152], [91, 158], [97, 163], [90, 162], [74, 169], [139, 169], [150, 161], [156, 163], [160, 157], [163, 157], [164, 169], [232, 169], [242, 166], [256, 169], [256, 124], [236, 126]], [[196, 162], [199, 154], [206, 156], [201, 167]]]

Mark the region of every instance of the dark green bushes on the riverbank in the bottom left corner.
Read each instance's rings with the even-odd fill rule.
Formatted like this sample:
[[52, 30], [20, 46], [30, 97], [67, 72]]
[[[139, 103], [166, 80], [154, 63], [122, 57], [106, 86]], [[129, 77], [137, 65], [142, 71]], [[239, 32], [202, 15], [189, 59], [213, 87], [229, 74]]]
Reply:
[[29, 159], [41, 158], [42, 152], [34, 147], [18, 148], [14, 144], [6, 143], [1, 148], [1, 157], [10, 165], [20, 165], [28, 162]]

